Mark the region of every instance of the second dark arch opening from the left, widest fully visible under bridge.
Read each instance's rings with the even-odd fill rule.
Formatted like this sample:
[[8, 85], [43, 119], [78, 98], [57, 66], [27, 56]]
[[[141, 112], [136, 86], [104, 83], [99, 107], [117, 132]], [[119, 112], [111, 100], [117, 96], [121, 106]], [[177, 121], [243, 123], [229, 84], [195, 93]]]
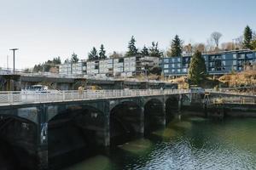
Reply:
[[66, 166], [70, 156], [75, 161], [90, 154], [104, 143], [105, 126], [105, 113], [92, 105], [60, 106], [48, 122], [49, 164]]

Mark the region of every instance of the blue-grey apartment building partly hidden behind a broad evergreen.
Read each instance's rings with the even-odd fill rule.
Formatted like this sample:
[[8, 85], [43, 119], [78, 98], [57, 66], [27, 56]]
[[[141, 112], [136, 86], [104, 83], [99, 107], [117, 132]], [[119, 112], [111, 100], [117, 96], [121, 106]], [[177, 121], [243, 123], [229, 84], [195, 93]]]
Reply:
[[[222, 75], [231, 71], [243, 71], [245, 65], [256, 62], [256, 51], [232, 50], [202, 54], [210, 75]], [[160, 59], [165, 77], [187, 75], [192, 56], [166, 57]]]

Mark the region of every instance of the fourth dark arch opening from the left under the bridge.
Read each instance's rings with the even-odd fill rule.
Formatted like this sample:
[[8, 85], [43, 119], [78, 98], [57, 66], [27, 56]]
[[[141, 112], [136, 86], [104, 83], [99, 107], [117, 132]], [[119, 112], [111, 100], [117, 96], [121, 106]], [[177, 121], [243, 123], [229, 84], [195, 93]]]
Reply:
[[148, 99], [144, 105], [145, 135], [165, 124], [164, 103], [160, 99]]

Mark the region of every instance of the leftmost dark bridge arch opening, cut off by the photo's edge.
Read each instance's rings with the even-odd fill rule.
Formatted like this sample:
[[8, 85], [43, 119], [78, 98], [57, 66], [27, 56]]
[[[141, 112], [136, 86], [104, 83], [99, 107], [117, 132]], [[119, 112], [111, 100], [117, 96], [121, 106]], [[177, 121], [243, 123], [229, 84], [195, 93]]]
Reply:
[[[15, 169], [35, 166], [38, 141], [38, 125], [29, 119], [16, 115], [0, 115], [0, 162], [1, 157]], [[23, 162], [32, 160], [30, 164]], [[1, 168], [1, 165], [0, 165]]]

